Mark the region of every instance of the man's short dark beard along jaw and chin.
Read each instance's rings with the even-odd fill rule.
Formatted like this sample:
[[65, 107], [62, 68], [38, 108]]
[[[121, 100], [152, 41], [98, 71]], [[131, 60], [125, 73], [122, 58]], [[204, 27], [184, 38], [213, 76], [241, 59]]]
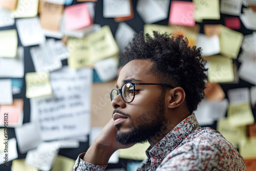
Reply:
[[148, 140], [162, 136], [166, 130], [167, 119], [164, 116], [164, 96], [147, 112], [143, 112], [138, 118], [138, 127], [132, 122], [132, 130], [126, 133], [119, 132], [121, 124], [116, 125], [116, 141], [123, 145], [133, 143], [145, 143]]

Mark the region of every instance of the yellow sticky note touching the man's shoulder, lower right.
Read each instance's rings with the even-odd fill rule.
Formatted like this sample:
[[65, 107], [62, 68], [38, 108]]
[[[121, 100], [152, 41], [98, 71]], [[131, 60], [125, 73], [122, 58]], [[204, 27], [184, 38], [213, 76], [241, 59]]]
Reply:
[[227, 118], [218, 120], [217, 131], [235, 147], [246, 142], [246, 126], [233, 126], [229, 123]]

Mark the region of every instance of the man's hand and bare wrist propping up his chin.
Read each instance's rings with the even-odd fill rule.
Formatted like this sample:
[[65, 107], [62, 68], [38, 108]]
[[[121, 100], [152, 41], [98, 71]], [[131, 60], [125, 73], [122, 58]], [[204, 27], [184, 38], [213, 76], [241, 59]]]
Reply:
[[111, 155], [119, 148], [128, 148], [133, 146], [119, 144], [115, 140], [117, 129], [114, 126], [114, 120], [111, 119], [100, 132], [93, 144], [88, 148], [83, 160], [97, 165], [108, 164]]

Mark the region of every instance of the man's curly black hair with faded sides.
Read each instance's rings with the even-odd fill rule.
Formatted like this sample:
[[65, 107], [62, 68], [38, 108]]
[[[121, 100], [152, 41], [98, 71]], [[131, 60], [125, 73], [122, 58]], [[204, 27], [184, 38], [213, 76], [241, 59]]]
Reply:
[[[154, 37], [143, 32], [135, 34], [129, 42], [121, 59], [127, 63], [134, 59], [153, 61], [150, 73], [157, 76], [160, 83], [169, 83], [173, 87], [182, 87], [186, 93], [185, 103], [193, 113], [204, 97], [206, 61], [201, 48], [188, 46], [183, 35], [160, 34], [153, 31]], [[166, 88], [163, 88], [166, 89]]]

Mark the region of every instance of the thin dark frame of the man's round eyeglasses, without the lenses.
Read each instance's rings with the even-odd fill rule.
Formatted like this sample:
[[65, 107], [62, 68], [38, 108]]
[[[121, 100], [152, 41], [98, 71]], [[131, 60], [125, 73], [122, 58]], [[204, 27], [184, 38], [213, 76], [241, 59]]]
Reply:
[[[112, 89], [112, 90], [111, 90], [111, 92], [110, 92], [110, 99], [111, 99], [111, 101], [114, 100], [114, 98], [112, 99], [112, 96], [111, 96], [111, 95], [112, 95], [112, 92], [115, 90], [115, 91], [117, 92], [117, 96], [120, 94], [121, 97], [122, 97], [122, 99], [123, 99], [123, 101], [124, 101], [125, 103], [131, 103], [131, 102], [133, 102], [133, 100], [134, 100], [134, 98], [135, 98], [135, 93], [134, 93], [134, 95], [133, 95], [133, 99], [132, 99], [130, 102], [127, 102], [127, 101], [124, 99], [123, 95], [122, 95], [121, 89], [122, 89], [122, 87], [123, 87], [126, 83], [131, 83], [131, 84], [133, 85], [133, 90], [134, 90], [134, 92], [136, 91], [136, 89], [135, 89], [135, 86], [136, 86], [136, 85], [169, 86], [170, 88], [174, 89], [173, 86], [171, 86], [170, 84], [167, 84], [167, 83], [133, 83], [133, 82], [130, 82], [130, 81], [126, 81], [126, 82], [124, 82], [124, 83], [122, 84], [122, 86], [121, 86], [120, 89]], [[116, 96], [116, 97], [117, 97], [117, 96]], [[115, 98], [116, 98], [116, 97], [115, 97]]]

